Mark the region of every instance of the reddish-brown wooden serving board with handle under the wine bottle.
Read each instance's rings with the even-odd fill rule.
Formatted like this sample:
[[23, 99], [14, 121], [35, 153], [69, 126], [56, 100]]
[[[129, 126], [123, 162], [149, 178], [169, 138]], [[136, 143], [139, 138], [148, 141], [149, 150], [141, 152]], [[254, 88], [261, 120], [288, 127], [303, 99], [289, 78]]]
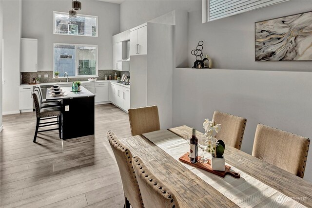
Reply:
[[208, 160], [208, 163], [201, 163], [201, 162], [199, 162], [199, 159], [201, 158], [199, 156], [198, 156], [198, 162], [196, 164], [191, 163], [190, 158], [189, 158], [189, 154], [190, 154], [189, 152], [186, 152], [182, 157], [179, 158], [179, 160], [181, 162], [183, 162], [183, 163], [187, 163], [187, 164], [189, 164], [191, 166], [194, 166], [196, 168], [200, 168], [202, 170], [206, 170], [208, 172], [214, 173], [214, 174], [216, 174], [218, 176], [221, 176], [223, 178], [224, 178], [224, 176], [226, 176], [228, 174], [232, 175], [234, 178], [240, 178], [240, 174], [237, 173], [237, 172], [231, 171], [231, 167], [230, 166], [226, 165], [225, 166], [225, 171], [213, 170], [211, 168], [210, 160]]

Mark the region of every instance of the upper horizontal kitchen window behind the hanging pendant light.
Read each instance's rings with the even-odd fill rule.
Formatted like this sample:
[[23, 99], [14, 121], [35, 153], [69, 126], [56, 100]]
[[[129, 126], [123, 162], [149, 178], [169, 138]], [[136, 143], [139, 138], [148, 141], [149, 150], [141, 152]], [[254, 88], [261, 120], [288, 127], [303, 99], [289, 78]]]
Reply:
[[54, 34], [72, 36], [98, 37], [98, 17], [90, 15], [77, 15], [69, 18], [68, 13], [53, 12]]

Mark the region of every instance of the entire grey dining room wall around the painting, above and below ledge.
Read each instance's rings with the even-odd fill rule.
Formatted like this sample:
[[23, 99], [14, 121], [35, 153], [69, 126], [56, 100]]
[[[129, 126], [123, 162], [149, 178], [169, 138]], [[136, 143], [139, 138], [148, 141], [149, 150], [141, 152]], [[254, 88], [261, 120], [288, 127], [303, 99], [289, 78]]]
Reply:
[[[215, 110], [246, 117], [242, 151], [248, 153], [257, 123], [311, 138], [312, 62], [255, 62], [254, 22], [311, 11], [312, 1], [291, 0], [204, 24], [201, 5], [201, 0], [131, 0], [120, 6], [121, 30], [175, 9], [188, 11], [188, 66], [195, 61], [191, 50], [203, 40], [214, 67], [229, 69], [174, 69], [174, 126], [202, 131], [204, 117], [212, 118]], [[307, 162], [305, 179], [312, 181], [311, 150]]]

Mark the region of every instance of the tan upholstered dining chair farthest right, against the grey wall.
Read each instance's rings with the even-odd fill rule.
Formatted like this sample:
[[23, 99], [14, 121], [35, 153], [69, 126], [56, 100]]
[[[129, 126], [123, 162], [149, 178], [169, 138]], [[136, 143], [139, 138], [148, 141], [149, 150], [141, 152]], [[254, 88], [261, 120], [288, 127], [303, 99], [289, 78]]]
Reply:
[[252, 155], [303, 178], [309, 145], [306, 137], [258, 124]]

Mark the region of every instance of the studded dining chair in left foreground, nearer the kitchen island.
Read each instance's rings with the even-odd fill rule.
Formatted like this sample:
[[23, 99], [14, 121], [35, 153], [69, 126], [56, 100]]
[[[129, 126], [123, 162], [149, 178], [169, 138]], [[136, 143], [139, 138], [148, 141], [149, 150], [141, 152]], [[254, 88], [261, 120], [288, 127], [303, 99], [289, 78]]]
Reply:
[[117, 165], [120, 172], [123, 193], [125, 196], [124, 208], [144, 208], [140, 189], [137, 184], [136, 174], [132, 167], [131, 151], [125, 147], [115, 135], [114, 132], [106, 132], [107, 139], [114, 152]]

